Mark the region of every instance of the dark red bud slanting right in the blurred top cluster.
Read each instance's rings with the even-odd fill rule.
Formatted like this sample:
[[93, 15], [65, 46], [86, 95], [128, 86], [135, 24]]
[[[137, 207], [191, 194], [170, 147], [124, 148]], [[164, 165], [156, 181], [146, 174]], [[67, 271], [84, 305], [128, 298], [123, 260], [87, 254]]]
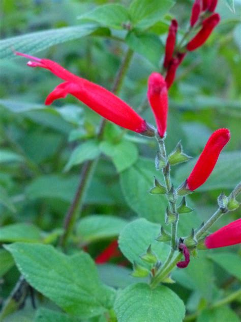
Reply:
[[192, 51], [203, 45], [216, 25], [219, 23], [219, 21], [220, 15], [218, 13], [214, 13], [212, 16], [203, 20], [202, 29], [196, 34], [193, 39], [189, 41], [189, 43], [187, 44], [187, 49], [189, 51]]

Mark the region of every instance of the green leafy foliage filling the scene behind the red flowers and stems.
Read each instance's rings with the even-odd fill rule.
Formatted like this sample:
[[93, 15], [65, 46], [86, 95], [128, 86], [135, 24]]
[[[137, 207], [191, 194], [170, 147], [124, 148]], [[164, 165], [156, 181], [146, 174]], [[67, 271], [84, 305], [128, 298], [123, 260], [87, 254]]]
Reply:
[[[159, 232], [157, 223], [164, 222], [166, 207], [164, 198], [147, 194], [157, 175], [154, 142], [113, 124], [107, 125], [102, 142], [97, 141], [100, 117], [71, 96], [45, 108], [45, 97], [59, 84], [58, 79], [47, 71], [27, 68], [25, 60], [14, 59], [12, 48], [37, 52], [36, 56], [52, 59], [111, 89], [130, 47], [134, 56], [120, 97], [154, 122], [145, 101], [147, 77], [160, 70], [170, 19], [178, 20], [181, 37], [191, 5], [186, 0], [176, 4], [171, 0], [1, 2], [0, 243], [7, 246], [0, 249], [0, 305], [20, 273], [26, 279], [29, 276], [27, 281], [45, 296], [37, 294], [37, 311], [28, 299], [21, 311], [4, 321], [103, 322], [108, 320], [107, 311], [109, 320], [114, 321], [116, 314], [119, 321], [129, 321], [129, 314], [131, 321], [140, 321], [151, 301], [149, 289], [129, 276], [129, 261], [138, 261], [152, 243]], [[182, 215], [182, 235], [208, 219], [217, 208], [218, 195], [222, 191], [229, 194], [240, 180], [241, 3], [220, 0], [217, 12], [220, 25], [203, 47], [189, 53], [169, 91], [168, 152], [182, 139], [185, 152], [197, 157], [212, 131], [220, 127], [231, 131], [231, 140], [212, 176], [190, 197], [195, 211]], [[132, 31], [129, 23], [134, 26]], [[62, 233], [83, 162], [98, 157], [68, 258], [46, 244], [56, 246]], [[187, 178], [193, 163], [195, 160], [173, 169], [175, 182]], [[239, 217], [238, 210], [223, 216], [213, 229]], [[119, 255], [99, 265], [97, 271], [91, 257], [119, 233], [120, 250], [129, 261]], [[82, 246], [88, 246], [91, 256], [80, 252]], [[165, 257], [165, 244], [156, 252]], [[182, 320], [183, 304], [179, 310], [173, 307], [180, 298], [186, 306], [186, 320], [238, 321], [240, 296], [231, 305], [215, 303], [240, 288], [240, 256], [238, 246], [199, 252], [187, 269], [174, 272], [175, 284], [155, 291], [150, 303], [157, 308], [157, 315], [149, 320], [161, 320], [158, 308], [162, 305], [165, 314], [172, 312], [173, 321]], [[88, 267], [88, 274], [84, 267]], [[32, 278], [33, 272], [38, 272], [38, 279]], [[112, 287], [127, 288], [116, 295]], [[165, 294], [163, 300], [159, 292]], [[137, 304], [126, 308], [131, 294]], [[146, 307], [140, 311], [143, 296]], [[83, 299], [85, 305], [77, 305]]]

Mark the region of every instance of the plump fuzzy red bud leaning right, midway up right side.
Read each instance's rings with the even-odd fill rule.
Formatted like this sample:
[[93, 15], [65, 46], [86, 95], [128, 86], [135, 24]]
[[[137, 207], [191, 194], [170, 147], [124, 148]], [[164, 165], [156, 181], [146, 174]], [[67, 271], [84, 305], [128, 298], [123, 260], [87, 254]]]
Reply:
[[190, 190], [197, 189], [212, 173], [220, 152], [230, 139], [230, 132], [227, 128], [220, 128], [208, 139], [193, 171], [187, 179], [187, 187]]

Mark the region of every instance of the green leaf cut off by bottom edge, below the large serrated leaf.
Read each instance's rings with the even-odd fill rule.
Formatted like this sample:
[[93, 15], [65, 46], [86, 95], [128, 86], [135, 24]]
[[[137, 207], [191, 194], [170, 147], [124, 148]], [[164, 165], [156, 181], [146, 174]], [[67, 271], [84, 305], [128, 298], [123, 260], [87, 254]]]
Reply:
[[65, 313], [39, 308], [36, 312], [34, 322], [80, 322], [78, 317], [70, 316]]

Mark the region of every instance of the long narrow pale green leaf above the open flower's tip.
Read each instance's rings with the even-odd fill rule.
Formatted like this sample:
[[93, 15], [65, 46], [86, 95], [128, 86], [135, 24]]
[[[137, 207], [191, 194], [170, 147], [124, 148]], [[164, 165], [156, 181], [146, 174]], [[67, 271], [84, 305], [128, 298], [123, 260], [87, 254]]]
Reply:
[[96, 29], [96, 25], [83, 24], [7, 38], [0, 41], [0, 59], [15, 57], [13, 49], [32, 54], [53, 45], [87, 36]]

